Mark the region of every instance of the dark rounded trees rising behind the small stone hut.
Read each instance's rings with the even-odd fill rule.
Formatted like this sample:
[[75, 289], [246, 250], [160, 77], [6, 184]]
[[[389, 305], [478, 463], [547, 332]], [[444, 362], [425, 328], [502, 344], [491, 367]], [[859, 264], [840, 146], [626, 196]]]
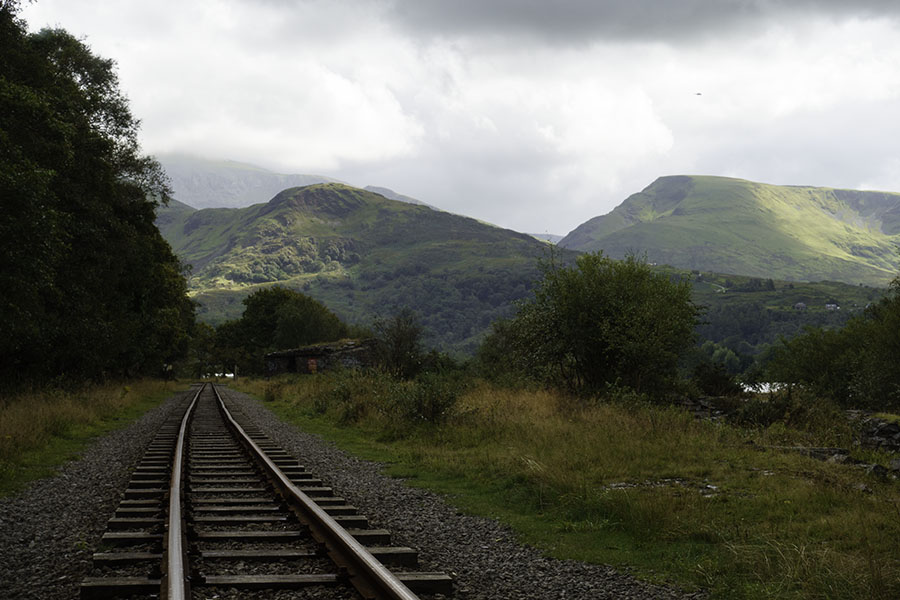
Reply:
[[347, 337], [350, 329], [328, 308], [282, 286], [257, 290], [244, 298], [244, 314], [216, 329], [217, 362], [244, 373], [264, 373], [264, 357]]

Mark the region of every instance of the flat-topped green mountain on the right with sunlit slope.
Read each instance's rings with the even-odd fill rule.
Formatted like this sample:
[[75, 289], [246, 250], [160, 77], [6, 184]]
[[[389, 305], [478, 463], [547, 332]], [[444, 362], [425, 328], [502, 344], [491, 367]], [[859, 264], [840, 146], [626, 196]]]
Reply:
[[898, 270], [900, 194], [661, 177], [559, 245], [646, 253], [685, 269], [885, 285]]

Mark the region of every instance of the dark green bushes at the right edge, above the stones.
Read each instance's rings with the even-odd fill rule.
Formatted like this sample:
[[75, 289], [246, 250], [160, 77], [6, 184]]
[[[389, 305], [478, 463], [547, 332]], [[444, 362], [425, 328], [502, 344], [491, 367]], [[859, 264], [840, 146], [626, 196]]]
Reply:
[[900, 408], [900, 278], [843, 329], [809, 328], [773, 349], [773, 381], [800, 384], [842, 406]]

